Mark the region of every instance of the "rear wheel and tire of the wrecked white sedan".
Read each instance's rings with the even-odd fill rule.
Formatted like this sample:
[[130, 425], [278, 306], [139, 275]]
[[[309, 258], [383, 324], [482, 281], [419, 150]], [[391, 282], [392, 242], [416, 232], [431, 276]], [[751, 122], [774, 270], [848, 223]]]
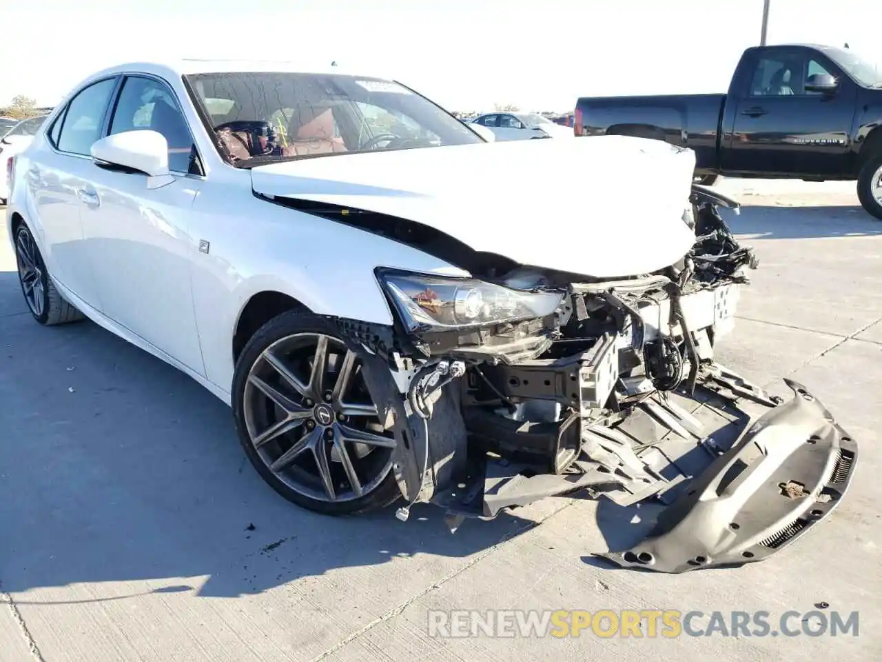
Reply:
[[69, 304], [56, 289], [34, 235], [25, 223], [19, 223], [15, 229], [15, 260], [19, 268], [21, 293], [34, 320], [46, 327], [53, 327], [83, 319], [83, 313]]

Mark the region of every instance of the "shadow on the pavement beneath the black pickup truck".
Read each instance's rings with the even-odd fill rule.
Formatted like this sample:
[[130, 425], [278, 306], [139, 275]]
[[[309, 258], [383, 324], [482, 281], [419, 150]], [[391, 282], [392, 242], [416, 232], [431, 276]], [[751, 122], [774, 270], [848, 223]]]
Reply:
[[744, 240], [871, 237], [882, 235], [882, 221], [862, 207], [741, 207], [722, 210], [729, 227]]

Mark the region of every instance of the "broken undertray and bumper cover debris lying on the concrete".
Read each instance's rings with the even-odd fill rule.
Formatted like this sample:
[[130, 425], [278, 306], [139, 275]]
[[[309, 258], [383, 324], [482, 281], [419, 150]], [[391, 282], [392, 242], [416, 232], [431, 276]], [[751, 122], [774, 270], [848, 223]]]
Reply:
[[[622, 567], [679, 573], [741, 565], [780, 551], [835, 508], [857, 459], [854, 440], [803, 386], [782, 402], [719, 365], [693, 395], [653, 391], [617, 425], [581, 424], [565, 471], [491, 460], [433, 501], [452, 529], [468, 516], [587, 490], [619, 506], [666, 505], [629, 550], [597, 553]], [[579, 425], [579, 421], [575, 423]]]

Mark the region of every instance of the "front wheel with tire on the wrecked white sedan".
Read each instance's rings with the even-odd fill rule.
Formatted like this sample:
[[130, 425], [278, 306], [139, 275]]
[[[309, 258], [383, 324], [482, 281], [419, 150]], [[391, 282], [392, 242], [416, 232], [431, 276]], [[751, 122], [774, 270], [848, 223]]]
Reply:
[[285, 312], [236, 362], [239, 440], [260, 475], [296, 504], [328, 515], [383, 508], [399, 496], [392, 431], [380, 420], [361, 359], [326, 320]]

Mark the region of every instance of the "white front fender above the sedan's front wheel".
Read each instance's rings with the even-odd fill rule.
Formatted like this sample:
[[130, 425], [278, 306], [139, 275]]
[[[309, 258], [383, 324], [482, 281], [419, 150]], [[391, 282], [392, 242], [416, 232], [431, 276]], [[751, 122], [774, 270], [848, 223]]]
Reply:
[[[280, 292], [319, 315], [391, 325], [376, 267], [467, 275], [412, 246], [252, 199], [247, 213], [197, 221], [193, 299], [206, 374], [229, 389], [236, 324], [252, 297]], [[243, 210], [244, 211], [244, 210]], [[243, 238], [242, 218], [250, 218]], [[208, 245], [205, 245], [208, 244]]]

